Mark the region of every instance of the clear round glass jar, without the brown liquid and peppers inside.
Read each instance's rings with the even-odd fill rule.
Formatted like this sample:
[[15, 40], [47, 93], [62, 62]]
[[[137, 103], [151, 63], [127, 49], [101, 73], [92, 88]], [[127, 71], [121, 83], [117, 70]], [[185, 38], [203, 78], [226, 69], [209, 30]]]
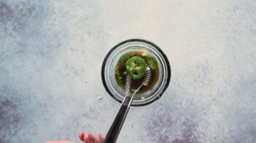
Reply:
[[158, 81], [153, 88], [144, 93], [139, 93], [134, 96], [131, 106], [143, 106], [155, 102], [159, 99], [163, 92], [168, 87], [171, 79], [171, 66], [168, 62], [166, 54], [150, 41], [141, 39], [130, 39], [117, 44], [112, 48], [104, 59], [101, 68], [101, 78], [106, 91], [110, 96], [122, 102], [125, 97], [125, 90], [122, 89], [115, 80], [115, 66], [120, 57], [127, 52], [146, 52], [151, 54], [158, 62]]

